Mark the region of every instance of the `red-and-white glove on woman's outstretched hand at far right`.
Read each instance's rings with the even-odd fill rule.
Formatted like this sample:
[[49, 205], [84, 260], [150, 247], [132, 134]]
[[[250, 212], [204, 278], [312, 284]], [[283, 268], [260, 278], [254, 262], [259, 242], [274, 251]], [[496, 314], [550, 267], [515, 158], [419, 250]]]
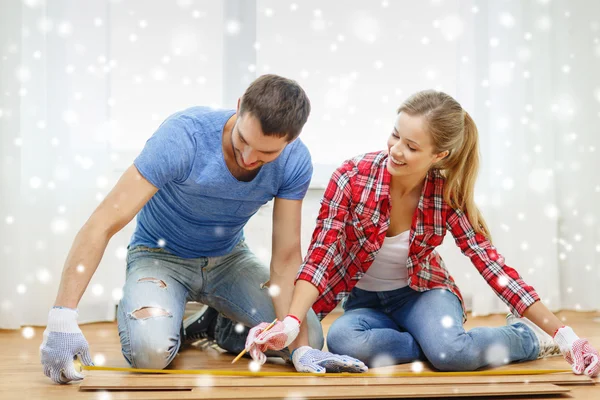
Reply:
[[560, 352], [577, 375], [598, 376], [600, 372], [600, 355], [587, 339], [580, 339], [568, 326], [563, 326], [554, 334], [554, 342]]

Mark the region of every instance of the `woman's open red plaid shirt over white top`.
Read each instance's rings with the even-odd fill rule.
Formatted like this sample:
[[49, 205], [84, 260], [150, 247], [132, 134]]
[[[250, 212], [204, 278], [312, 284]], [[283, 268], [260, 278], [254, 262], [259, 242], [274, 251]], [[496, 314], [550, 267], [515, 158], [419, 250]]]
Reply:
[[[321, 319], [350, 293], [383, 244], [390, 217], [391, 175], [386, 162], [385, 152], [344, 162], [333, 173], [321, 200], [312, 243], [297, 276], [319, 290], [313, 309]], [[538, 294], [504, 264], [504, 257], [484, 235], [475, 233], [463, 211], [444, 202], [444, 182], [435, 169], [425, 178], [410, 230], [408, 285], [420, 292], [451, 291], [459, 298], [466, 320], [462, 295], [435, 250], [448, 229], [494, 292], [521, 316], [539, 300]]]

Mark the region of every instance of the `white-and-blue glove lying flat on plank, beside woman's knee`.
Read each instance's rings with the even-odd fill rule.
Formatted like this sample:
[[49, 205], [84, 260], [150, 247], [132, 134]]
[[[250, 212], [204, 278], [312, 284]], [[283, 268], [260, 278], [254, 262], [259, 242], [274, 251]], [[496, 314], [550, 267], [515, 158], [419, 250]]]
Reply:
[[360, 360], [340, 356], [309, 346], [298, 347], [292, 352], [292, 362], [298, 372], [324, 374], [326, 372], [367, 372], [369, 368]]

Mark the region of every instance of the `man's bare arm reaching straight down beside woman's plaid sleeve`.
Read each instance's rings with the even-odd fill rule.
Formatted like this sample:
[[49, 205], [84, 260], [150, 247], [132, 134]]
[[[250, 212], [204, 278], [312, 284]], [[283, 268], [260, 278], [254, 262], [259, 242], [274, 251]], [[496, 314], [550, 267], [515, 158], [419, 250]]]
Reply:
[[[279, 295], [273, 297], [275, 314], [280, 321], [289, 313], [294, 281], [302, 264], [301, 219], [302, 200], [275, 198], [270, 284], [281, 289]], [[290, 350], [296, 347], [296, 343], [308, 343], [308, 328], [305, 323], [300, 325], [300, 334], [290, 345]]]

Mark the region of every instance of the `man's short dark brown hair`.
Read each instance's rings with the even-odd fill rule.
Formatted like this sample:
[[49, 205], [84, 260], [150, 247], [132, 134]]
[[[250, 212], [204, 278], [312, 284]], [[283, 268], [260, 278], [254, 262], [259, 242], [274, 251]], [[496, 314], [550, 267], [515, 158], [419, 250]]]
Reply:
[[310, 101], [300, 85], [278, 75], [262, 75], [242, 96], [240, 116], [252, 114], [268, 136], [296, 139], [310, 114]]

